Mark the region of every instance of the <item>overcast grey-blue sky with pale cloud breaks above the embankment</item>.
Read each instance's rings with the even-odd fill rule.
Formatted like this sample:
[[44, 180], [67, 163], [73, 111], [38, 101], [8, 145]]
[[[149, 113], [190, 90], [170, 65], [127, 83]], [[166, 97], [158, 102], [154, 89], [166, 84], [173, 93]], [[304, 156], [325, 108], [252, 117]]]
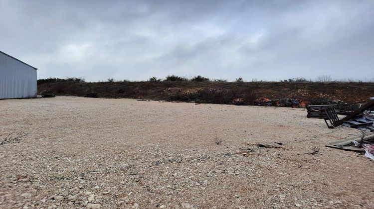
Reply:
[[374, 0], [0, 0], [38, 78], [374, 80]]

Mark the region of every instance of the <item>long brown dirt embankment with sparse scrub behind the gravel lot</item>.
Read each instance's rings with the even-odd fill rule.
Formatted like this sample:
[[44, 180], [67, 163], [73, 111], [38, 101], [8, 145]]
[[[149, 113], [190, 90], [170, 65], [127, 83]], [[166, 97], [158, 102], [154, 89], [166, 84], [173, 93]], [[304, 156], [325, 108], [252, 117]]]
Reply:
[[57, 82], [38, 85], [38, 92], [84, 96], [97, 93], [100, 98], [131, 98], [167, 101], [201, 101], [232, 104], [237, 98], [253, 104], [258, 98], [367, 101], [374, 96], [374, 83], [344, 82]]

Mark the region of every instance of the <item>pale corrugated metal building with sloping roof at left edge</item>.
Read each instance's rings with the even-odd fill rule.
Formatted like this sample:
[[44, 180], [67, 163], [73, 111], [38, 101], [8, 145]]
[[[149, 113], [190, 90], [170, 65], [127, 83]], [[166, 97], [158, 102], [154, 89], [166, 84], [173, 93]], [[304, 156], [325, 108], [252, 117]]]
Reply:
[[36, 70], [0, 51], [0, 99], [35, 98]]

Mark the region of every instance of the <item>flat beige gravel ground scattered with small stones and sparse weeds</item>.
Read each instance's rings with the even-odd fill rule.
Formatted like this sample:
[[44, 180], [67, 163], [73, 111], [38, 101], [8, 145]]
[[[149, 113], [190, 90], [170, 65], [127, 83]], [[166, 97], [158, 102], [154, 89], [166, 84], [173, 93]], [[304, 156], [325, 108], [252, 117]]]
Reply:
[[358, 133], [303, 108], [2, 100], [0, 208], [374, 208], [373, 162], [324, 146]]

